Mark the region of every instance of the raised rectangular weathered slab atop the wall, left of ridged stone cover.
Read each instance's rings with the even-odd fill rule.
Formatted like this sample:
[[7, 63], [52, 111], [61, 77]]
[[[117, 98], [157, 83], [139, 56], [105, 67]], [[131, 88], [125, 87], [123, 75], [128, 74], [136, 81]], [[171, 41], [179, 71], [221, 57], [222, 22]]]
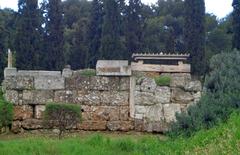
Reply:
[[127, 60], [98, 60], [97, 75], [99, 76], [131, 76], [131, 66]]

